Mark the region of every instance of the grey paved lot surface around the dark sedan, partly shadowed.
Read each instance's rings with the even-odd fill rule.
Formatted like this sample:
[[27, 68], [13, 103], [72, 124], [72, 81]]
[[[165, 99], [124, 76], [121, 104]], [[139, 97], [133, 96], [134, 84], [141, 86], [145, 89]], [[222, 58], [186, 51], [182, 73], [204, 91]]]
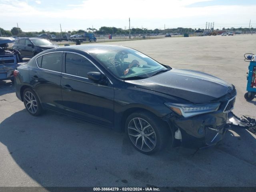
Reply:
[[[256, 118], [246, 102], [244, 53], [256, 35], [162, 38], [112, 42], [173, 68], [200, 70], [236, 86], [234, 113]], [[62, 114], [34, 117], [0, 81], [0, 186], [255, 186], [256, 135], [228, 130], [215, 148], [170, 148], [146, 156], [123, 133]]]

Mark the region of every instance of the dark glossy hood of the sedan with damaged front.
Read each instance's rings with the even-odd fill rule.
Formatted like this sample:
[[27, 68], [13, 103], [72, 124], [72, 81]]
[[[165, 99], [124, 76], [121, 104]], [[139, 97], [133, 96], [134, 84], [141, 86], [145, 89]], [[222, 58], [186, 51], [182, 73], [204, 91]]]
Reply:
[[232, 85], [212, 75], [172, 69], [141, 80], [126, 80], [133, 86], [176, 96], [193, 103], [207, 103], [232, 90]]

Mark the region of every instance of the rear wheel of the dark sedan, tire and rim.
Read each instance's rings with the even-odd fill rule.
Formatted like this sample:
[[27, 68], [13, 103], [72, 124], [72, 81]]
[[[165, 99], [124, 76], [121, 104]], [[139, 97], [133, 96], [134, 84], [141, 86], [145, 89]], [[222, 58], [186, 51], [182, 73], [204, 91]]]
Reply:
[[36, 93], [31, 88], [26, 88], [23, 92], [23, 102], [26, 110], [33, 116], [42, 114], [43, 109]]

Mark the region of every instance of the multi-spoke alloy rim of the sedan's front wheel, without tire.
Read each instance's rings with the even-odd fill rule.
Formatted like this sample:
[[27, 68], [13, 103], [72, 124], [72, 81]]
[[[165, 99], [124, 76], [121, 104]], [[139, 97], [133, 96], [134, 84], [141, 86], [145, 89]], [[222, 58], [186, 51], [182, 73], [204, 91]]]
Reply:
[[152, 126], [142, 118], [133, 118], [128, 124], [130, 140], [143, 152], [150, 152], [156, 147], [156, 133]]

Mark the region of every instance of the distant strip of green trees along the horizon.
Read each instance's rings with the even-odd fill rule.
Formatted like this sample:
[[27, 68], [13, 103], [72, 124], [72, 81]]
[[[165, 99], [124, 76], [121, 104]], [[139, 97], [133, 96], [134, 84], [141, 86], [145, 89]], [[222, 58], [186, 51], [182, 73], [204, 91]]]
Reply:
[[[171, 29], [165, 29], [165, 30], [161, 30], [161, 29], [147, 29], [147, 28], [131, 28], [130, 31], [129, 29], [124, 30], [122, 28], [116, 28], [116, 27], [106, 27], [103, 26], [101, 28], [99, 28], [98, 30], [96, 30], [95, 28], [87, 28], [86, 30], [73, 30], [73, 31], [68, 31], [67, 33], [70, 35], [74, 35], [74, 34], [84, 34], [85, 32], [93, 32], [94, 34], [98, 34], [98, 35], [108, 35], [108, 34], [112, 34], [112, 35], [127, 35], [127, 34], [142, 34], [142, 35], [147, 35], [147, 34], [166, 34], [166, 33], [178, 33], [178, 34], [185, 34], [185, 33], [194, 33], [197, 29], [192, 29], [192, 28], [182, 28], [182, 27], [178, 27], [178, 28], [171, 28]], [[200, 29], [198, 28], [198, 30], [202, 30], [204, 31], [204, 29]], [[216, 29], [217, 31], [219, 29]], [[222, 28], [223, 31], [241, 31], [242, 33], [248, 33], [248, 32], [254, 32], [254, 28]], [[42, 30], [40, 32], [23, 32], [20, 28], [17, 27], [13, 27], [11, 30], [4, 30], [3, 28], [0, 28], [0, 32], [2, 34], [2, 36], [36, 36], [38, 34], [42, 34], [42, 33], [47, 33], [47, 34], [54, 34], [54, 35], [60, 35], [60, 32], [51, 32], [51, 31], [45, 31]], [[62, 32], [62, 34], [65, 34], [66, 32]]]

